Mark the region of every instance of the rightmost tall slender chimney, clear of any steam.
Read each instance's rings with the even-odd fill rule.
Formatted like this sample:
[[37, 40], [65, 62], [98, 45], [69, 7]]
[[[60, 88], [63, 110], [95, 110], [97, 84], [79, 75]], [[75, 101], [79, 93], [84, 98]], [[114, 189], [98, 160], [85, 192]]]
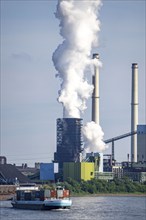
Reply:
[[[131, 132], [138, 124], [138, 64], [132, 64]], [[131, 162], [137, 162], [137, 135], [131, 136]]]

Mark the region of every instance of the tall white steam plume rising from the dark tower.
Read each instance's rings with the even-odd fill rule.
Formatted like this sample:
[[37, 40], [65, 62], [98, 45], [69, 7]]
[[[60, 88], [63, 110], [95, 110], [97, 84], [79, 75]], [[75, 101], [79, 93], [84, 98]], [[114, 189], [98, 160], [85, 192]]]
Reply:
[[63, 42], [52, 59], [61, 79], [58, 101], [63, 104], [64, 117], [80, 118], [93, 91], [85, 72], [93, 63], [92, 47], [98, 46], [100, 6], [100, 0], [59, 0], [57, 4], [55, 15]]

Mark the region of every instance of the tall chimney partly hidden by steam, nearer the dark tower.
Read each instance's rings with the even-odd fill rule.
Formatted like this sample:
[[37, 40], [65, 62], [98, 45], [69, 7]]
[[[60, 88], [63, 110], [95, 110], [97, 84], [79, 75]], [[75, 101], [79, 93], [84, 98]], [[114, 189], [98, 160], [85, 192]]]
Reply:
[[[99, 54], [93, 54], [93, 59], [99, 60]], [[99, 125], [99, 66], [94, 65], [94, 74], [92, 77], [94, 86], [92, 94], [92, 121]]]

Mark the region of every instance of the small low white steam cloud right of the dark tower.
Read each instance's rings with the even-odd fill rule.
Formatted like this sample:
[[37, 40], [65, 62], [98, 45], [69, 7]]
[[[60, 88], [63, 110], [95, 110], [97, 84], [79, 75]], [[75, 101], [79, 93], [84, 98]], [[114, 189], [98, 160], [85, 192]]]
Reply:
[[82, 128], [83, 138], [85, 141], [84, 150], [86, 153], [103, 152], [107, 145], [103, 142], [104, 133], [101, 127], [95, 122], [88, 122]]

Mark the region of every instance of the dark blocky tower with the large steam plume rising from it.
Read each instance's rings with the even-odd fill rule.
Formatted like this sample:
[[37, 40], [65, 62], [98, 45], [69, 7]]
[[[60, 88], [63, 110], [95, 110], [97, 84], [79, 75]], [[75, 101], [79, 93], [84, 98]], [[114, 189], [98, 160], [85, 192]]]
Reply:
[[81, 128], [80, 118], [57, 119], [57, 152], [54, 154], [54, 161], [59, 163], [59, 169], [62, 169], [63, 162], [80, 161]]

